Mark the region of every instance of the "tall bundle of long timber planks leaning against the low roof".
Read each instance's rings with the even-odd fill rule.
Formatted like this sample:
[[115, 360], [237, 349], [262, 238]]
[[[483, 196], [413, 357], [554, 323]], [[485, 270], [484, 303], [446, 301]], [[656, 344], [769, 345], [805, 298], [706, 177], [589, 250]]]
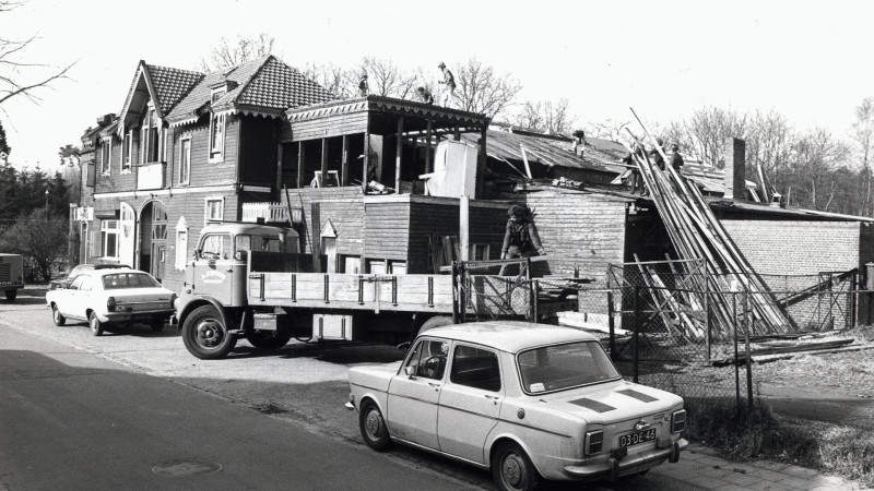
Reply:
[[[646, 131], [646, 130], [645, 130]], [[631, 133], [630, 131], [628, 133]], [[642, 143], [631, 133], [638, 145]], [[652, 139], [654, 141], [654, 139]], [[711, 333], [714, 337], [729, 337], [735, 328], [743, 332], [739, 318], [748, 313], [752, 316], [751, 334], [787, 333], [792, 324], [780, 310], [768, 290], [761, 285], [752, 266], [743, 258], [734, 243], [729, 239], [722, 224], [713, 215], [704, 199], [701, 191], [694, 182], [687, 181], [670, 165], [670, 159], [662, 148], [657, 151], [664, 159], [665, 170], [660, 170], [646, 155], [631, 152], [638, 170], [649, 190], [659, 215], [664, 223], [674, 250], [682, 260], [705, 261], [705, 291], [698, 294], [697, 301], [705, 303], [702, 295], [708, 295], [711, 315]], [[629, 148], [630, 152], [630, 148]], [[657, 280], [658, 276], [651, 276]], [[734, 283], [736, 286], [732, 286]], [[663, 285], [652, 285], [652, 289], [661, 289]], [[748, 309], [741, 306], [742, 298], [734, 297], [733, 289], [746, 292]], [[696, 323], [689, 320], [688, 325]], [[687, 328], [688, 337], [699, 338], [702, 328]]]

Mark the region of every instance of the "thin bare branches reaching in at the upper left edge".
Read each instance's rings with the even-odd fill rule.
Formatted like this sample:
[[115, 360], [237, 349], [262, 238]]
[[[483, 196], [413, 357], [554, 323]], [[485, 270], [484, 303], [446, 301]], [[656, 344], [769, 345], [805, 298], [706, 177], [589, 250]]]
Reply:
[[[24, 2], [0, 0], [0, 14], [9, 13], [22, 4]], [[36, 35], [24, 40], [0, 38], [0, 105], [17, 96], [38, 104], [42, 99], [37, 96], [37, 89], [49, 87], [55, 81], [69, 79], [67, 73], [75, 62], [57, 68], [29, 61], [26, 50], [36, 39]]]

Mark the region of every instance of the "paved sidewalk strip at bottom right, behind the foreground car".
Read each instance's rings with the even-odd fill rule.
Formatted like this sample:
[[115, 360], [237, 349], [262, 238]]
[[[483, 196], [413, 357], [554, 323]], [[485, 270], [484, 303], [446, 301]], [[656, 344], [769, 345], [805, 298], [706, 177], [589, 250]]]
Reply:
[[666, 475], [689, 484], [718, 490], [861, 490], [837, 476], [769, 460], [733, 463], [716, 455], [706, 446], [690, 444], [680, 462], [650, 471]]

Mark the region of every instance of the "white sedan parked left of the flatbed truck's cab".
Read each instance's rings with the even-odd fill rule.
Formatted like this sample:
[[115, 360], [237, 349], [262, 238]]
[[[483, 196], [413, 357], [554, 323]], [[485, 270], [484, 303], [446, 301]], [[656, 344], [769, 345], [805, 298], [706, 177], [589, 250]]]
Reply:
[[67, 288], [46, 292], [55, 325], [87, 321], [95, 336], [107, 324], [145, 323], [158, 332], [175, 313], [176, 295], [149, 273], [125, 267], [84, 268]]

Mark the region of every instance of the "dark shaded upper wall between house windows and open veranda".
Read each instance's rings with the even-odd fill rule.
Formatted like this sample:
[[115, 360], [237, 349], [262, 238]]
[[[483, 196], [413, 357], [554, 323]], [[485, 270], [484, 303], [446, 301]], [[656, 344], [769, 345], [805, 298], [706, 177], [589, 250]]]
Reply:
[[245, 184], [276, 184], [276, 121], [244, 117], [240, 120], [240, 181]]

